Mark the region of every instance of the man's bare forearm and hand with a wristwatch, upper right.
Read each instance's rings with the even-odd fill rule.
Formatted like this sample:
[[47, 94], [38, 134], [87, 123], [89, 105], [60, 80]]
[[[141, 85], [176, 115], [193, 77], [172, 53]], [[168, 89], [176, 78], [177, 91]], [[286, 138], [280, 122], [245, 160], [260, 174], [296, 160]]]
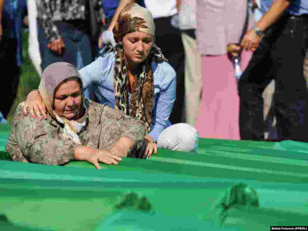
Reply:
[[[255, 24], [261, 31], [264, 31], [269, 26], [274, 24], [281, 16], [281, 14], [288, 8], [291, 0], [275, 0], [270, 9], [263, 15], [263, 17]], [[260, 44], [261, 39], [254, 29], [249, 30], [242, 42], [241, 47], [246, 50], [254, 51]]]

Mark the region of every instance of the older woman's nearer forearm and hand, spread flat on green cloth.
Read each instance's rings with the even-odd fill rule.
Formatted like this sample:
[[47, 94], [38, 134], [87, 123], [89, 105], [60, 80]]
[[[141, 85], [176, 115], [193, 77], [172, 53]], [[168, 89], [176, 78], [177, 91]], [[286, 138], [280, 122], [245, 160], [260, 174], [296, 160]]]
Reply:
[[75, 159], [87, 161], [93, 164], [97, 169], [101, 169], [99, 162], [117, 165], [118, 162], [122, 160], [121, 157], [112, 154], [106, 149], [92, 149], [82, 145], [75, 149]]

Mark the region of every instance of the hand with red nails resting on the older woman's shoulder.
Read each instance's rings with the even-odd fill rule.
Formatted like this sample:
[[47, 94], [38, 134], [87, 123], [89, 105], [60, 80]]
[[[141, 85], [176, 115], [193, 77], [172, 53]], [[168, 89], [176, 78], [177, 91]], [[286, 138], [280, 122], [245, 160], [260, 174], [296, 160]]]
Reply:
[[27, 115], [27, 109], [29, 109], [32, 118], [37, 117], [42, 120], [43, 115], [43, 118], [47, 119], [46, 107], [39, 91], [30, 91], [23, 106], [24, 115]]

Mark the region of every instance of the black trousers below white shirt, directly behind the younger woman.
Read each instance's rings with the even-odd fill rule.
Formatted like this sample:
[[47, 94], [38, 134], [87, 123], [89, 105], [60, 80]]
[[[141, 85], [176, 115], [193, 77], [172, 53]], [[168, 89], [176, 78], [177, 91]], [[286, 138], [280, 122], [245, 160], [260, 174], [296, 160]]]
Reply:
[[181, 31], [171, 25], [171, 17], [155, 18], [155, 43], [162, 50], [176, 72], [176, 100], [169, 120], [172, 124], [185, 122], [184, 118], [184, 46]]

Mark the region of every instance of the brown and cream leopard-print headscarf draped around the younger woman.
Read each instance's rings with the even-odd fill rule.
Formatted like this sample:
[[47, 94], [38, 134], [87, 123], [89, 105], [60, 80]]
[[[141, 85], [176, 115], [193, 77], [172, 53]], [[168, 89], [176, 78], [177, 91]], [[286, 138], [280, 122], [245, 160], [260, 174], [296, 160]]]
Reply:
[[154, 81], [151, 63], [168, 61], [164, 58], [160, 48], [155, 44], [148, 57], [141, 63], [140, 72], [135, 75], [128, 108], [129, 78], [125, 63], [123, 45], [120, 42], [127, 33], [142, 31], [153, 35], [155, 25], [152, 14], [138, 4], [128, 4], [121, 11], [115, 28], [113, 29], [115, 41], [114, 65], [114, 94], [115, 109], [124, 111], [137, 120], [144, 122], [147, 132], [152, 125], [152, 106], [154, 101]]

